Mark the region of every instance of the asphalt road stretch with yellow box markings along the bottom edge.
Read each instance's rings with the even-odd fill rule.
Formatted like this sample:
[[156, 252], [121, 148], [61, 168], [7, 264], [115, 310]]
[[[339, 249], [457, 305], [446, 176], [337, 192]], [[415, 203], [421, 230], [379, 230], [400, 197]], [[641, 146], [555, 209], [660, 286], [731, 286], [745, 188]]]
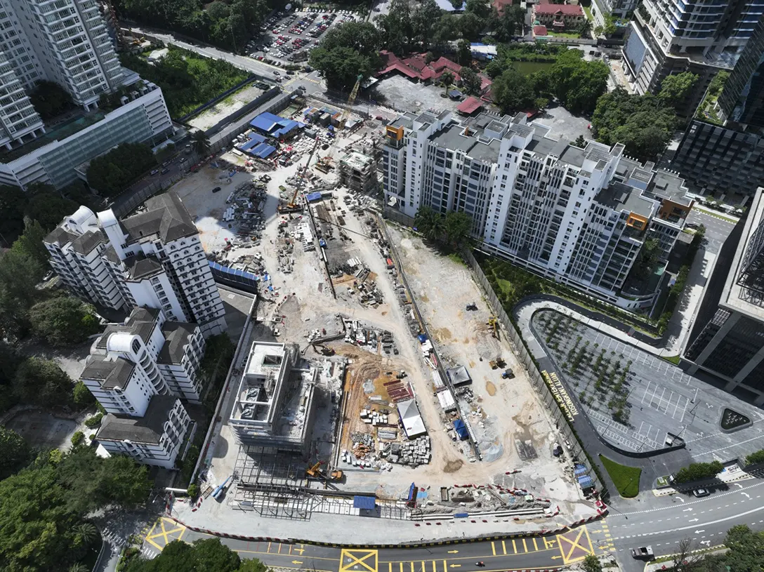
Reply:
[[[588, 554], [614, 550], [607, 541], [607, 523], [595, 522], [559, 535], [479, 541], [429, 548], [329, 548], [241, 541], [222, 538], [241, 557], [256, 557], [276, 567], [316, 572], [448, 572], [449, 570], [528, 570], [564, 567], [583, 561]], [[146, 535], [144, 548], [157, 552], [167, 542], [193, 542], [210, 535], [193, 532], [170, 519], [160, 519]], [[482, 561], [485, 566], [478, 567]]]

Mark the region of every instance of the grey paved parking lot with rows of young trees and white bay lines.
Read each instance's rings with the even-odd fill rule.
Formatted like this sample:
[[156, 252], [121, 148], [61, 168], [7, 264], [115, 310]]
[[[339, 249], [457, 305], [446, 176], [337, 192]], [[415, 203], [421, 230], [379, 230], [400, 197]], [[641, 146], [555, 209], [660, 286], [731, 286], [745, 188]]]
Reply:
[[[533, 320], [536, 331], [542, 331], [538, 322], [544, 314], [537, 312]], [[668, 361], [648, 354], [630, 344], [611, 338], [594, 328], [581, 324], [568, 331], [569, 338], [581, 336], [580, 343], [588, 342], [596, 357], [604, 351], [605, 357], [620, 361], [621, 371], [628, 365], [626, 378], [629, 421], [626, 425], [613, 418], [613, 409], [604, 406], [611, 394], [601, 393], [581, 373], [572, 376], [562, 367], [568, 347], [559, 343], [560, 350], [546, 347], [545, 338], [538, 339], [548, 355], [555, 356], [557, 376], [565, 382], [568, 393], [591, 419], [596, 431], [618, 448], [635, 453], [659, 451], [667, 446], [672, 435], [686, 444], [686, 450], [695, 461], [729, 461], [764, 448], [764, 412], [736, 396], [709, 383], [689, 376]], [[581, 345], [581, 347], [584, 347]], [[582, 362], [580, 372], [591, 368], [596, 361]], [[566, 364], [567, 365], [567, 364]], [[720, 426], [725, 408], [746, 415], [753, 422], [745, 428], [727, 432]]]

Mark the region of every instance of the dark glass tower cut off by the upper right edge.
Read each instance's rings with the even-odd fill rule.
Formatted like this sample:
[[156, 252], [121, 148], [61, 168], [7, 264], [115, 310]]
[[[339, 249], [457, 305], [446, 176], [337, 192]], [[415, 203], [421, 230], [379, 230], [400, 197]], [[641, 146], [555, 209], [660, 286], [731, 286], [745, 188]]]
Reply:
[[727, 121], [764, 129], [764, 15], [724, 84], [719, 106]]

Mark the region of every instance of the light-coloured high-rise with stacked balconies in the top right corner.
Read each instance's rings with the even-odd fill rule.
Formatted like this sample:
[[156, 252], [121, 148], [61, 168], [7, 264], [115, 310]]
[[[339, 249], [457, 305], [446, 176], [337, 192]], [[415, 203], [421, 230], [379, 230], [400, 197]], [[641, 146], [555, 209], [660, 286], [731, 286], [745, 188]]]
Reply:
[[680, 110], [692, 115], [713, 76], [733, 68], [762, 13], [761, 0], [643, 0], [623, 47], [626, 76], [638, 93], [654, 93], [670, 74], [698, 74]]

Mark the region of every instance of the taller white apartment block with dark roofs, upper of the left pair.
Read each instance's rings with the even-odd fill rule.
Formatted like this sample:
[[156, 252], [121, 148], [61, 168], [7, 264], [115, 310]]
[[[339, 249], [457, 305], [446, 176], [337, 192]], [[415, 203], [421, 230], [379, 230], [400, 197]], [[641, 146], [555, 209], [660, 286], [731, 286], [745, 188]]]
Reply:
[[193, 220], [174, 193], [118, 220], [80, 207], [44, 240], [50, 264], [83, 299], [112, 309], [161, 309], [196, 322], [207, 337], [225, 331], [225, 309]]

